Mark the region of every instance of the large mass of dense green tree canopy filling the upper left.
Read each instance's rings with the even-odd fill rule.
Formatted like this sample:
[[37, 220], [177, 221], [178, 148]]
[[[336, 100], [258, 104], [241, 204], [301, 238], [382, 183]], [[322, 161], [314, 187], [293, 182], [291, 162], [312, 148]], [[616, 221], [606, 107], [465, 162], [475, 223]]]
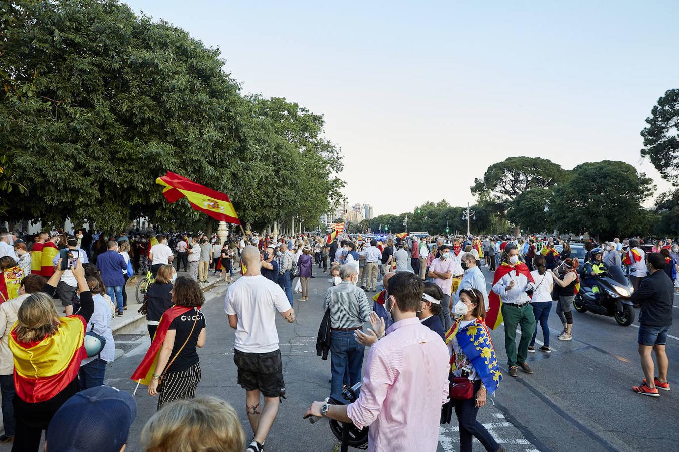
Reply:
[[339, 197], [342, 164], [323, 117], [243, 98], [219, 49], [118, 0], [11, 12], [1, 18], [0, 187], [26, 190], [3, 197], [3, 218], [112, 230], [141, 217], [204, 223], [185, 200], [166, 203], [155, 179], [168, 170], [226, 192], [257, 228], [291, 209], [315, 224]]

